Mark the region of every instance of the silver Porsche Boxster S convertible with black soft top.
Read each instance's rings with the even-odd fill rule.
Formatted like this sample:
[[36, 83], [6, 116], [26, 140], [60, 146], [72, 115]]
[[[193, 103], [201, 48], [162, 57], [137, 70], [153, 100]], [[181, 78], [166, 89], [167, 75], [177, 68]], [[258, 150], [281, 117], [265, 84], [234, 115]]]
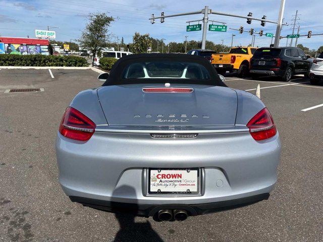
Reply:
[[98, 79], [74, 97], [57, 136], [73, 202], [168, 221], [268, 199], [281, 153], [273, 118], [205, 58], [132, 54]]

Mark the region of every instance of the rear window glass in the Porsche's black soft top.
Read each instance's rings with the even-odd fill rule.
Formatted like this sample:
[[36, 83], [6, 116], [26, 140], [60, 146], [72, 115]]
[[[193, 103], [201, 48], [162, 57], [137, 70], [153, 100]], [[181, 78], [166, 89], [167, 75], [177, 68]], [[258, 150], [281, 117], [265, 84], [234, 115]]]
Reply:
[[122, 72], [122, 79], [144, 78], [209, 80], [210, 74], [201, 64], [175, 61], [131, 63]]

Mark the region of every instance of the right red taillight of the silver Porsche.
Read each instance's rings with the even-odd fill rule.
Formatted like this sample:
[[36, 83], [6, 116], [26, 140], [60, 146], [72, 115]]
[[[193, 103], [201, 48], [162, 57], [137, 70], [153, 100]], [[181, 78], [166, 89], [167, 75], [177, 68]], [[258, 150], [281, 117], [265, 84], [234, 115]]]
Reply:
[[256, 141], [269, 139], [277, 133], [272, 115], [266, 107], [250, 119], [247, 127], [252, 138]]

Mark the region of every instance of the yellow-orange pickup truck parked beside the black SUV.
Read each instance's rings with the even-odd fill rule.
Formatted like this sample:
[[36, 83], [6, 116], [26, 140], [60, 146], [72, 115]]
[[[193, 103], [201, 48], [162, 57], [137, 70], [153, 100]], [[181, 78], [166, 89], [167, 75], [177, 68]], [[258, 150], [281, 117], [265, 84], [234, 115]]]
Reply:
[[217, 72], [224, 75], [227, 71], [237, 72], [239, 77], [249, 74], [249, 62], [257, 48], [233, 47], [229, 53], [212, 54], [211, 64]]

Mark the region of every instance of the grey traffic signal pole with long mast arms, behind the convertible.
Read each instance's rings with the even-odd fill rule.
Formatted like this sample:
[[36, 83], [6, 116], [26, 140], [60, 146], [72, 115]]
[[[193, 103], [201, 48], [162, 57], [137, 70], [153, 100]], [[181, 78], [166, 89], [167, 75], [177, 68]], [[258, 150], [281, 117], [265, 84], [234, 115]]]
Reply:
[[[285, 0], [282, 0], [282, 1], [284, 2], [284, 6], [285, 6]], [[154, 24], [156, 19], [160, 19], [160, 22], [161, 23], [164, 23], [165, 22], [165, 18], [171, 18], [171, 17], [177, 17], [177, 16], [185, 16], [185, 15], [195, 15], [195, 14], [203, 14], [203, 19], [202, 20], [198, 20], [198, 21], [203, 21], [202, 46], [201, 46], [202, 49], [205, 49], [206, 31], [207, 31], [207, 23], [209, 21], [208, 20], [208, 15], [209, 14], [229, 16], [229, 17], [235, 17], [235, 18], [242, 18], [242, 19], [247, 19], [247, 20], [261, 21], [261, 25], [264, 24], [265, 22], [277, 24], [276, 21], [271, 21], [271, 20], [265, 19], [265, 16], [262, 19], [257, 19], [257, 18], [253, 18], [251, 16], [242, 16], [242, 15], [236, 15], [236, 14], [228, 14], [228, 13], [215, 12], [215, 11], [212, 11], [211, 9], [208, 9], [208, 6], [205, 6], [204, 9], [202, 9], [200, 11], [196, 11], [196, 12], [189, 12], [189, 13], [182, 13], [182, 14], [173, 14], [173, 15], [168, 15], [168, 16], [165, 16], [164, 15], [164, 12], [162, 12], [160, 17], [154, 17], [154, 15], [152, 14], [151, 15], [151, 18], [149, 18], [149, 20], [150, 20], [150, 23], [151, 24]], [[191, 21], [191, 22], [194, 22], [194, 21]], [[282, 19], [280, 20], [280, 26], [281, 25], [282, 25]]]

